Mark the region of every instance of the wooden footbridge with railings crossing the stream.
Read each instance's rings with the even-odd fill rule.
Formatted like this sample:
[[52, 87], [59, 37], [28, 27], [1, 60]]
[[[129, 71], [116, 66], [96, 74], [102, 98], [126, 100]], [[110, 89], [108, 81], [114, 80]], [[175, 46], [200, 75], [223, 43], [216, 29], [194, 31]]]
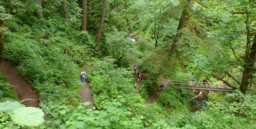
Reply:
[[208, 83], [208, 82], [186, 82], [186, 81], [171, 81], [169, 85], [175, 85], [177, 87], [183, 87], [190, 90], [207, 90], [208, 92], [233, 92], [233, 89], [228, 88], [226, 84], [221, 83]]

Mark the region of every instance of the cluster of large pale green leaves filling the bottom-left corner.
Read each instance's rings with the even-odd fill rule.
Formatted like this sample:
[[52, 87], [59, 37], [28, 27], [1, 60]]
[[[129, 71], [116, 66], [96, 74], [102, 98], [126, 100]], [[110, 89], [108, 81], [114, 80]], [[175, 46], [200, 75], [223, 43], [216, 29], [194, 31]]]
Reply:
[[[6, 101], [0, 103], [0, 112], [6, 113], [0, 114], [1, 121], [3, 122], [7, 120], [4, 120], [4, 118], [6, 118], [4, 115], [9, 115], [15, 123], [27, 126], [38, 126], [44, 122], [44, 112], [41, 109], [24, 107], [24, 105], [18, 102]], [[4, 127], [4, 125], [5, 124], [2, 123], [0, 126]]]

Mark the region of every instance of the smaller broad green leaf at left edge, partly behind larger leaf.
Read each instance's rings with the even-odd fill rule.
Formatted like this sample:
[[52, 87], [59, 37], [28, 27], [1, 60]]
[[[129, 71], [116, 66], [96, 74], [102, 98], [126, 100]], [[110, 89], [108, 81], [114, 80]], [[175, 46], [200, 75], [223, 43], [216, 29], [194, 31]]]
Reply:
[[6, 101], [0, 103], [0, 112], [11, 113], [14, 109], [24, 107], [25, 105], [20, 104], [19, 102]]

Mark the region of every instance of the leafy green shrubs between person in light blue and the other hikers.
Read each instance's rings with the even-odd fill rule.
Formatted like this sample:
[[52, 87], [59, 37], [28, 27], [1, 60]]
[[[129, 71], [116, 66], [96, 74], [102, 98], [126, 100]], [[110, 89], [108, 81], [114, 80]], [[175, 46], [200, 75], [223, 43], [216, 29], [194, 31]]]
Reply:
[[142, 101], [137, 95], [138, 98], [134, 99], [132, 71], [128, 71], [128, 68], [115, 68], [114, 62], [114, 59], [105, 58], [104, 61], [98, 61], [96, 68], [87, 73], [97, 109], [103, 109], [104, 104], [116, 98], [126, 106]]

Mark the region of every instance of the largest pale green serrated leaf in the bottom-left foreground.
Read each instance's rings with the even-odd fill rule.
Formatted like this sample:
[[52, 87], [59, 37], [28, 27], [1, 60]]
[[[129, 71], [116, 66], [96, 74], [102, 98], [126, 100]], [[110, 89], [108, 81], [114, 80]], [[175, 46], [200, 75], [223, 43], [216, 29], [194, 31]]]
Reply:
[[44, 112], [35, 107], [17, 108], [13, 110], [10, 117], [14, 122], [28, 126], [38, 126], [44, 122]]

